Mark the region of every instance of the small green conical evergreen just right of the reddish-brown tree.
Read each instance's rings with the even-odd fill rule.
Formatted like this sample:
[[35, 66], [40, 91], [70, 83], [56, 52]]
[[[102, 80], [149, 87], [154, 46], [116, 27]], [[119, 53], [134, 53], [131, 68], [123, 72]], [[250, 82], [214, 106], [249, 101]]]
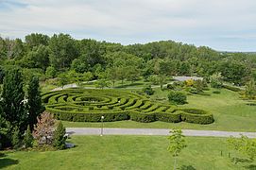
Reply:
[[66, 129], [63, 127], [63, 124], [59, 122], [58, 127], [54, 131], [54, 142], [53, 145], [57, 149], [64, 149], [65, 148], [65, 142], [67, 137], [65, 136]]

